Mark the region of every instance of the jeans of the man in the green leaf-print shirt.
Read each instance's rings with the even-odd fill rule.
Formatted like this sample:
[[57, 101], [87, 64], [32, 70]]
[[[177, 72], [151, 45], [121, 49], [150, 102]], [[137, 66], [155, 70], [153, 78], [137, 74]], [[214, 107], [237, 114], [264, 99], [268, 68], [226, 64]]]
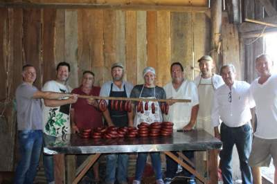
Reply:
[[[56, 137], [54, 136], [48, 136], [44, 134], [44, 145], [48, 141], [55, 141]], [[53, 155], [43, 154], [43, 163], [44, 163], [44, 173], [46, 176], [47, 183], [51, 183], [55, 181], [55, 175], [54, 175], [54, 158]]]

